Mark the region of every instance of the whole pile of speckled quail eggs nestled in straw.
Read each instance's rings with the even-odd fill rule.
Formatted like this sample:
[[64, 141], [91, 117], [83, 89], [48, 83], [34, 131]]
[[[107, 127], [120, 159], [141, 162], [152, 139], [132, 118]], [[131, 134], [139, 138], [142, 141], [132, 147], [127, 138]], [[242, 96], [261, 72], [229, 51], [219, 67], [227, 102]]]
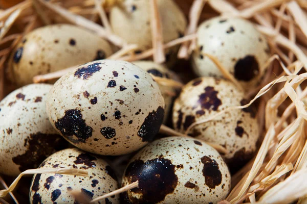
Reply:
[[[114, 33], [138, 44], [136, 53], [151, 48], [149, 1], [124, 2], [130, 7], [110, 10]], [[182, 37], [187, 22], [176, 3], [159, 0], [158, 8], [164, 41]], [[226, 111], [187, 132], [195, 122], [249, 102], [205, 54], [215, 56], [247, 90], [264, 77], [270, 49], [253, 24], [239, 18], [201, 22], [197, 37], [190, 59], [195, 77], [178, 90], [152, 77], [181, 81], [178, 46], [167, 50], [165, 64], [130, 63], [108, 60], [115, 46], [75, 25], [47, 25], [25, 35], [7, 69], [20, 88], [0, 103], [0, 173], [61, 167], [89, 172], [88, 177], [35, 174], [30, 203], [78, 203], [71, 191], [94, 199], [136, 181], [139, 187], [96, 203], [225, 199], [231, 173], [256, 151], [257, 113], [254, 107]], [[35, 75], [77, 65], [54, 84], [32, 84]], [[163, 124], [189, 136], [158, 139]], [[206, 142], [227, 152], [219, 154]], [[126, 161], [115, 164], [121, 157]], [[126, 166], [123, 172], [120, 165]]]

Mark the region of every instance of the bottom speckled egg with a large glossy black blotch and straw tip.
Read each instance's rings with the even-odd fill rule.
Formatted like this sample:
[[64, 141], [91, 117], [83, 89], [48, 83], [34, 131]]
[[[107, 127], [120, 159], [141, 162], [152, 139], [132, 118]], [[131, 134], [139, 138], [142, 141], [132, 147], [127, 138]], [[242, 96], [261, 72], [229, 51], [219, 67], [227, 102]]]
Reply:
[[230, 173], [218, 152], [193, 138], [167, 137], [144, 147], [128, 164], [122, 186], [127, 203], [217, 203], [230, 190]]

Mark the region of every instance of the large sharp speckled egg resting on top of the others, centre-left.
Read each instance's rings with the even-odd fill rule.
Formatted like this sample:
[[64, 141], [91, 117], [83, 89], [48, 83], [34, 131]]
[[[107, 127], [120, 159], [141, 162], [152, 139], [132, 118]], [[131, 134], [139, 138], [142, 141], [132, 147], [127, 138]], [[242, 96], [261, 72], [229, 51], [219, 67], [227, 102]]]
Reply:
[[73, 145], [123, 155], [153, 140], [164, 99], [149, 73], [129, 62], [99, 60], [60, 78], [46, 101], [49, 120]]

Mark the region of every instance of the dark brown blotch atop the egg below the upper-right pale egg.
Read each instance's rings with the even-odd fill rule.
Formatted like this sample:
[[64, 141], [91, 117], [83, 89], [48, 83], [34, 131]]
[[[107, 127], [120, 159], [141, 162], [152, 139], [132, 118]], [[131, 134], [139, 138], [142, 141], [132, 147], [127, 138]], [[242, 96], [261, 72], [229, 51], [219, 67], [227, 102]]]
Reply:
[[222, 105], [222, 101], [217, 97], [217, 91], [213, 87], [207, 86], [205, 93], [200, 95], [198, 103], [203, 109], [216, 111], [219, 106]]

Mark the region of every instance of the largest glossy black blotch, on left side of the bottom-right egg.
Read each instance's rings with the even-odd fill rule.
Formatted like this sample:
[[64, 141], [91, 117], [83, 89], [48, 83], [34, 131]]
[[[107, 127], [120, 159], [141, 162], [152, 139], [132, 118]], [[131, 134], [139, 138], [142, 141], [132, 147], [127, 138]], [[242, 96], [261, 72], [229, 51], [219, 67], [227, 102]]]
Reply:
[[[178, 184], [175, 166], [170, 160], [160, 156], [157, 159], [131, 162], [125, 171], [128, 183], [139, 181], [139, 188], [131, 189], [126, 196], [130, 203], [158, 203], [165, 199], [167, 194], [174, 192]], [[132, 193], [140, 198], [130, 196]]]

